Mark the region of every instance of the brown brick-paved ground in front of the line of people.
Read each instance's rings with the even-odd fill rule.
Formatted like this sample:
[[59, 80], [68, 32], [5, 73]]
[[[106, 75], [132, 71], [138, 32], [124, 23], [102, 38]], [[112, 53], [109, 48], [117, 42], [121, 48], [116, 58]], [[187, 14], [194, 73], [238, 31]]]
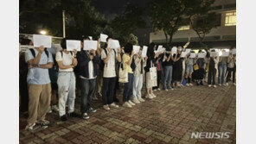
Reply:
[[[235, 143], [235, 86], [208, 88], [192, 86], [174, 91], [158, 91], [131, 109], [106, 111], [101, 101], [89, 120], [70, 118], [60, 122], [57, 113], [46, 129], [25, 131], [20, 115], [20, 143]], [[79, 99], [78, 99], [79, 100]], [[79, 110], [79, 103], [76, 103]], [[228, 139], [190, 139], [192, 132], [230, 132]]]

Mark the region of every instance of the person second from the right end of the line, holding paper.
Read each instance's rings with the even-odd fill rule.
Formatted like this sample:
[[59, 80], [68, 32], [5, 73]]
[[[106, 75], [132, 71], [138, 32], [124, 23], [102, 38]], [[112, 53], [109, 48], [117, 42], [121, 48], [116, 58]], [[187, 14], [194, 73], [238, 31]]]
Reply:
[[[224, 49], [222, 49], [222, 52], [226, 52]], [[226, 83], [224, 83], [225, 81], [225, 75], [226, 75], [226, 72], [227, 72], [227, 57], [223, 57], [223, 56], [220, 56], [220, 61], [219, 61], [219, 65], [218, 65], [218, 68], [219, 68], [219, 77], [218, 77], [218, 82], [219, 82], [219, 85], [226, 85]]]

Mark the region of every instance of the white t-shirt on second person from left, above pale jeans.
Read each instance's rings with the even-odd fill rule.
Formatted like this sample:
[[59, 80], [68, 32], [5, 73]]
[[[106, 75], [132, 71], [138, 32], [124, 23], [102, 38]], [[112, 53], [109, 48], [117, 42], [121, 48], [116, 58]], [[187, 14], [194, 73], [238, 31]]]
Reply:
[[[71, 66], [73, 63], [73, 55], [69, 53], [62, 52], [62, 57], [61, 57], [61, 52], [56, 53], [56, 61], [61, 61], [62, 60], [62, 65], [63, 66]], [[73, 68], [67, 68], [67, 69], [61, 69], [59, 68], [59, 72], [73, 72]]]

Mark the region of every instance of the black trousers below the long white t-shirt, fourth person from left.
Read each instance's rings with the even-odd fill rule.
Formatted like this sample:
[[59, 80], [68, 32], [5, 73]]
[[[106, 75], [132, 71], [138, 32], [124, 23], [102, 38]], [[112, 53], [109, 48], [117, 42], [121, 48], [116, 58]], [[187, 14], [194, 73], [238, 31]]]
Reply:
[[113, 103], [116, 77], [103, 78], [102, 102], [104, 105]]

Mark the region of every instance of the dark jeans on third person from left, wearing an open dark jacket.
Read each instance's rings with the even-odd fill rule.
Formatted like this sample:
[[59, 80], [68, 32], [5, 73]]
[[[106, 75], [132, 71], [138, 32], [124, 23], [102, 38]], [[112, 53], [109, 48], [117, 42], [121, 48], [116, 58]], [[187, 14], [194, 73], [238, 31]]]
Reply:
[[93, 91], [96, 86], [96, 78], [93, 79], [83, 79], [80, 78], [81, 84], [81, 103], [80, 103], [80, 112], [86, 113], [92, 107], [92, 97]]

